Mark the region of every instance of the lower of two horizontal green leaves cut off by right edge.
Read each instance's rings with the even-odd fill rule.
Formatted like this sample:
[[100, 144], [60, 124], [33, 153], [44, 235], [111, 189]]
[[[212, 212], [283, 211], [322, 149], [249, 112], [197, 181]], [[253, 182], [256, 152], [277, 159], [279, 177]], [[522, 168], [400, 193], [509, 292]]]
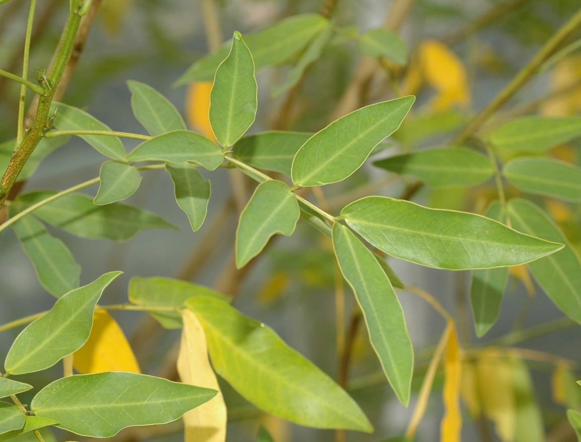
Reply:
[[581, 167], [571, 163], [523, 156], [509, 161], [503, 175], [523, 192], [581, 201]]

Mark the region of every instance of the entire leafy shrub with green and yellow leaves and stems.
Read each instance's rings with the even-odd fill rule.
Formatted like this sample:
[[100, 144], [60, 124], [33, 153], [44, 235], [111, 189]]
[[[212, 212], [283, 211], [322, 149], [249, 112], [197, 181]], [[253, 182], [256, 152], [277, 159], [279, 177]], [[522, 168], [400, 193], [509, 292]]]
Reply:
[[[406, 120], [414, 105], [413, 95], [356, 109], [313, 134], [277, 130], [246, 133], [257, 112], [256, 71], [292, 62], [286, 80], [272, 90], [274, 96], [284, 94], [300, 84], [304, 72], [336, 35], [357, 40], [362, 54], [377, 59], [392, 74], [394, 66], [407, 64], [406, 45], [394, 31], [377, 28], [358, 35], [336, 27], [331, 17], [334, 3], [326, 2], [321, 14], [292, 16], [254, 34], [243, 36], [235, 32], [231, 40], [184, 73], [178, 85], [213, 82], [208, 115], [215, 140], [188, 130], [167, 98], [138, 81], [127, 82], [131, 105], [149, 135], [112, 131], [84, 110], [53, 100], [73, 51], [81, 17], [91, 8], [91, 0], [71, 0], [55, 60], [47, 72], [40, 73], [38, 83], [27, 79], [28, 46], [22, 77], [0, 71], [21, 83], [21, 97], [26, 97], [26, 88], [38, 96], [30, 127], [24, 130], [22, 98], [17, 138], [0, 147], [3, 153], [10, 152], [2, 157], [5, 173], [0, 202], [6, 219], [0, 224], [0, 231], [8, 227], [15, 231], [40, 283], [57, 298], [49, 311], [0, 326], [4, 331], [28, 324], [4, 360], [0, 397], [6, 400], [0, 401], [0, 440], [34, 432], [42, 442], [38, 430], [48, 426], [80, 436], [111, 437], [125, 427], [168, 423], [184, 416], [187, 442], [224, 442], [227, 408], [216, 373], [268, 414], [320, 429], [374, 431], [370, 420], [343, 388], [345, 379], [335, 382], [285, 344], [270, 327], [239, 312], [227, 295], [165, 277], [134, 277], [126, 304], [98, 304], [103, 291], [121, 272], [105, 273], [79, 287], [80, 267], [45, 223], [76, 236], [113, 241], [128, 240], [149, 227], [172, 228], [173, 224], [155, 213], [121, 202], [138, 190], [141, 174], [154, 169], [164, 169], [171, 177], [177, 205], [185, 212], [193, 231], [202, 227], [211, 194], [210, 181], [199, 172], [200, 168], [238, 169], [256, 182], [252, 197], [239, 215], [237, 268], [249, 265], [271, 237], [291, 236], [299, 221], [309, 223], [318, 234], [327, 237], [338, 275], [356, 298], [354, 317], [363, 316], [383, 376], [406, 407], [414, 375], [414, 350], [394, 287], [415, 291], [442, 313], [447, 326], [432, 350], [419, 399], [402, 440], [411, 440], [415, 435], [440, 359], [444, 360], [445, 376], [446, 412], [441, 426], [444, 442], [459, 440], [460, 380], [469, 379], [469, 370], [478, 371], [491, 388], [500, 388], [499, 372], [509, 373], [514, 376], [515, 391], [530, 391], [528, 369], [518, 352], [503, 353], [498, 348], [487, 348], [478, 354], [468, 349], [461, 351], [454, 319], [431, 295], [404, 286], [385, 257], [435, 269], [472, 270], [469, 298], [479, 337], [498, 318], [510, 269], [519, 269], [513, 271], [521, 275], [530, 271], [555, 305], [571, 320], [581, 323], [579, 256], [557, 223], [536, 204], [539, 199], [525, 198], [543, 195], [581, 201], [579, 166], [550, 158], [546, 153], [581, 135], [581, 117], [528, 116], [483, 130], [483, 123], [566, 42], [581, 23], [581, 12], [570, 17], [539, 55], [451, 145], [408, 151], [373, 162], [391, 173], [413, 177], [415, 181], [411, 181], [407, 195], [401, 199], [365, 196], [333, 214], [321, 204], [313, 204], [307, 191], [319, 191], [320, 186], [339, 183], [356, 173]], [[34, 7], [35, 0], [31, 16]], [[27, 45], [31, 23], [29, 19]], [[394, 89], [401, 95], [399, 88]], [[99, 176], [64, 191], [14, 191], [15, 183], [30, 176], [44, 156], [68, 136], [83, 138], [107, 157]], [[127, 153], [121, 138], [142, 142]], [[408, 201], [414, 189], [424, 185], [477, 187], [489, 181], [496, 184], [497, 198], [483, 215], [428, 208]], [[99, 184], [95, 197], [80, 192], [94, 184]], [[507, 186], [518, 191], [519, 196], [507, 198]], [[163, 327], [182, 329], [177, 358], [181, 383], [139, 372], [131, 348], [107, 313], [109, 310], [146, 311]], [[113, 341], [116, 351], [123, 349], [123, 357], [114, 352], [111, 357], [110, 348], [103, 344]], [[65, 376], [38, 391], [30, 405], [23, 405], [17, 395], [33, 386], [13, 380], [13, 376], [39, 372], [61, 360]], [[79, 374], [73, 375], [73, 368]], [[571, 376], [566, 368], [561, 369], [561, 377]], [[502, 391], [498, 393], [499, 401], [519, 400], [518, 394], [512, 397], [507, 391], [506, 396], [502, 396]], [[465, 398], [469, 402], [470, 395]], [[474, 404], [468, 403], [471, 405]], [[515, 430], [514, 423], [503, 425], [506, 418], [502, 409], [498, 411], [490, 401], [485, 402], [482, 411], [479, 407], [476, 411], [472, 407], [470, 412], [475, 417], [482, 412], [492, 419], [503, 441], [514, 440], [515, 431], [525, 431], [522, 427]], [[579, 431], [581, 414], [571, 409], [568, 416]], [[338, 440], [342, 434], [336, 433]], [[272, 440], [262, 427], [257, 438]]]

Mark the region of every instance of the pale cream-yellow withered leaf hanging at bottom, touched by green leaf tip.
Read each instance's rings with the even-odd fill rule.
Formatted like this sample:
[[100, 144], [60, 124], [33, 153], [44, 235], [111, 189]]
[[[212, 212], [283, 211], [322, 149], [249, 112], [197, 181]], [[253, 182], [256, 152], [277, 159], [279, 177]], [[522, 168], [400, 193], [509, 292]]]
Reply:
[[[220, 391], [210, 366], [206, 335], [196, 315], [182, 313], [184, 328], [178, 355], [178, 373], [184, 384]], [[222, 393], [184, 415], [185, 442], [224, 442], [226, 440], [226, 405]]]

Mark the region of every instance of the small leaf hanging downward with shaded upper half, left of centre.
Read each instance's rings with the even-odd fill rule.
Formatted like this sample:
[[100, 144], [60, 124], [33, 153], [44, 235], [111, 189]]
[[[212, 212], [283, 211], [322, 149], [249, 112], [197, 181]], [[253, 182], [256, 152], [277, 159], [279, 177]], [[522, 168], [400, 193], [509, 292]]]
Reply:
[[196, 231], [204, 222], [210, 201], [210, 181], [206, 180], [195, 166], [182, 163], [166, 163], [166, 170], [174, 182], [175, 201], [188, 215], [192, 230]]

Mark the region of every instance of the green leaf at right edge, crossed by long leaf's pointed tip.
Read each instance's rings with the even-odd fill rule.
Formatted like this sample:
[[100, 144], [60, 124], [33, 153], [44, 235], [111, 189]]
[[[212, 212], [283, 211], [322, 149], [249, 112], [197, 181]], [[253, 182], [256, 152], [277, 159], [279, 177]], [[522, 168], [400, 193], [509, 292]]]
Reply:
[[508, 215], [515, 229], [565, 244], [560, 251], [529, 263], [529, 268], [558, 308], [581, 323], [581, 263], [571, 243], [557, 224], [532, 202], [511, 199], [508, 201]]

